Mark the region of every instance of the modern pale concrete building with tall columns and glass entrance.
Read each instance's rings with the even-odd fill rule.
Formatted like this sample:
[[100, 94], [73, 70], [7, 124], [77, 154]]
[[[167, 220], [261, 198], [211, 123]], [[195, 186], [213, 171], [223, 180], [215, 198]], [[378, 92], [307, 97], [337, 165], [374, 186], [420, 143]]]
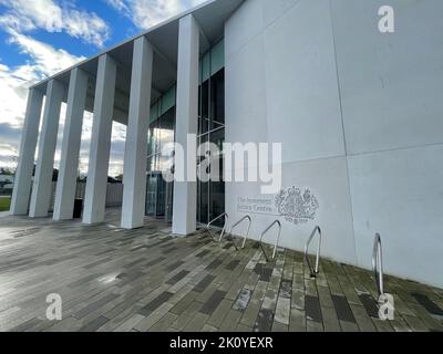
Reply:
[[[387, 2], [394, 32], [379, 27]], [[84, 223], [104, 218], [117, 121], [127, 125], [123, 228], [148, 215], [186, 236], [223, 212], [229, 226], [250, 215], [251, 238], [279, 219], [280, 244], [302, 250], [318, 225], [324, 257], [363, 268], [380, 232], [385, 272], [443, 287], [442, 44], [440, 0], [208, 1], [30, 88], [12, 214], [48, 216], [66, 102], [54, 220], [72, 218], [89, 111]], [[162, 146], [186, 146], [188, 134], [281, 143], [281, 192], [164, 181]]]

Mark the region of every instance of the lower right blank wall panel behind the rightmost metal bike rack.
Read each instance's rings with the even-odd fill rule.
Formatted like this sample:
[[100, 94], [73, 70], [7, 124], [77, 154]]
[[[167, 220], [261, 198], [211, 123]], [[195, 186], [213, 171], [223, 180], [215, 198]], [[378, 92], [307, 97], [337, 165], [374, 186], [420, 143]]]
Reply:
[[360, 266], [380, 232], [388, 273], [443, 287], [442, 166], [441, 145], [349, 157]]

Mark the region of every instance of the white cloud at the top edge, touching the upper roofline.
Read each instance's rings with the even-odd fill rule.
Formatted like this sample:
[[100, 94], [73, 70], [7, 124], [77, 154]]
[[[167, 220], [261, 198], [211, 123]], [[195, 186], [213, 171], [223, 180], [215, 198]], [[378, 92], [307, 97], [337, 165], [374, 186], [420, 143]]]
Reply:
[[140, 29], [148, 29], [205, 0], [105, 0]]

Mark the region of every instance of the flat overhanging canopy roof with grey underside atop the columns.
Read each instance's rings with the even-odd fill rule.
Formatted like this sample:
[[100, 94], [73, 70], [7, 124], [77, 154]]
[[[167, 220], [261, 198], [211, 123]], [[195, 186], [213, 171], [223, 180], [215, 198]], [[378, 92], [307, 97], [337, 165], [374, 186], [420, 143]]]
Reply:
[[[241, 6], [245, 0], [209, 0], [172, 19], [168, 19], [146, 31], [138, 33], [122, 43], [111, 46], [97, 54], [76, 63], [52, 76], [31, 86], [42, 92], [47, 91], [50, 80], [56, 79], [69, 84], [70, 72], [74, 67], [85, 71], [94, 79], [97, 72], [99, 58], [110, 54], [117, 62], [116, 92], [122, 96], [130, 94], [131, 70], [134, 40], [146, 37], [154, 46], [153, 100], [159, 97], [176, 81], [178, 54], [178, 24], [183, 17], [193, 14], [202, 29], [200, 53], [205, 53], [213, 44], [224, 37], [224, 25], [227, 19]], [[94, 80], [92, 80], [94, 81]], [[89, 87], [89, 95], [94, 95], [95, 84]], [[116, 96], [117, 96], [116, 94]]]

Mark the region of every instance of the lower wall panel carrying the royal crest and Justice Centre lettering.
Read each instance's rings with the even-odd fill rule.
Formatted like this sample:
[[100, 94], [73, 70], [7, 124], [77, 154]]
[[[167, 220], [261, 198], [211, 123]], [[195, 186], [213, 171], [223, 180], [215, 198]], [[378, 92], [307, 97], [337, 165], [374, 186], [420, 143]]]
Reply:
[[[250, 215], [253, 217], [251, 238], [259, 239], [267, 226], [279, 219], [282, 222], [281, 246], [299, 251], [303, 250], [306, 240], [315, 226], [319, 225], [324, 235], [323, 256], [356, 264], [346, 157], [284, 164], [282, 173], [284, 189], [292, 186], [300, 188], [301, 192], [310, 189], [318, 199], [319, 209], [313, 220], [298, 225], [287, 220], [278, 212], [276, 195], [261, 195], [259, 183], [228, 183], [226, 184], [226, 207], [230, 218], [229, 225], [245, 215]], [[245, 201], [247, 198], [255, 201]], [[264, 200], [269, 200], [269, 202], [266, 204]], [[261, 206], [271, 210], [266, 212], [257, 210]], [[244, 211], [245, 207], [254, 209]], [[244, 235], [244, 231], [240, 228], [236, 235]], [[271, 231], [267, 239], [269, 243], [274, 242], [275, 237], [276, 231]]]

